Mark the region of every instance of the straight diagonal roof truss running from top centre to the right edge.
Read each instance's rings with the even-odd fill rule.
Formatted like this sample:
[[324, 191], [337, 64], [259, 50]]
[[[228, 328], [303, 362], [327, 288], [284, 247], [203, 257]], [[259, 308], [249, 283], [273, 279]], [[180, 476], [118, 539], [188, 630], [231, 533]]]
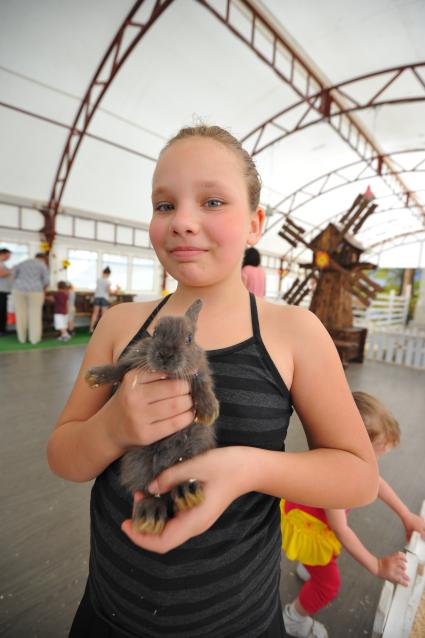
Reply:
[[[288, 38], [279, 31], [276, 24], [269, 19], [266, 10], [256, 0], [226, 0], [223, 11], [217, 8], [216, 0], [198, 0], [216, 16], [234, 35], [244, 42], [265, 64], [267, 64], [285, 84], [288, 84], [298, 97], [309, 105], [313, 95], [325, 95], [328, 89], [319, 74], [312, 66], [295, 51]], [[236, 16], [236, 17], [235, 17]], [[423, 81], [422, 81], [423, 84]], [[333, 107], [343, 110], [345, 100], [342, 96], [332, 96]], [[324, 102], [323, 110], [327, 106]], [[348, 126], [346, 129], [335, 124], [334, 118], [328, 117], [328, 124], [349, 146], [361, 157], [383, 156], [381, 149], [365, 127], [353, 113], [344, 115]], [[389, 172], [393, 172], [391, 161], [384, 157], [383, 162], [388, 165]], [[406, 195], [410, 189], [396, 176], [397, 188], [394, 192]], [[411, 194], [411, 193], [410, 193]], [[420, 209], [425, 217], [423, 205], [411, 194], [411, 202]]]

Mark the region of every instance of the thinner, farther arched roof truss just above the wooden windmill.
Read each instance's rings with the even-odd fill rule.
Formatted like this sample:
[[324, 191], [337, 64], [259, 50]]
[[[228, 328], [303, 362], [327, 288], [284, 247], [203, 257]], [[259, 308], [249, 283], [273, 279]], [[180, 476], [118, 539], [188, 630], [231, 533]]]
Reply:
[[[423, 157], [421, 157], [421, 159], [413, 167], [406, 168], [400, 163], [399, 159], [392, 159], [390, 169], [388, 163], [384, 161], [386, 158], [390, 158], [392, 156], [396, 156], [397, 158], [399, 158], [399, 156], [401, 155], [411, 153], [422, 153], [423, 155]], [[340, 166], [333, 171], [329, 171], [328, 173], [324, 173], [319, 177], [315, 177], [314, 179], [310, 180], [306, 184], [303, 184], [295, 191], [277, 202], [277, 204], [275, 204], [271, 209], [271, 212], [273, 212], [278, 217], [274, 221], [271, 221], [271, 216], [267, 217], [264, 234], [269, 232], [272, 228], [279, 224], [282, 217], [292, 214], [294, 211], [310, 203], [313, 199], [321, 197], [322, 195], [330, 193], [331, 191], [343, 188], [344, 186], [348, 186], [362, 180], [370, 180], [377, 176], [392, 179], [403, 174], [422, 172], [425, 172], [425, 148], [415, 148], [407, 149], [404, 151], [396, 151], [394, 153], [384, 153], [366, 160], [358, 160], [356, 162], [345, 164], [344, 166]], [[394, 183], [393, 186], [395, 188], [396, 183]], [[422, 205], [420, 203], [417, 203], [418, 200], [416, 196], [414, 198], [412, 197], [414, 193], [412, 193], [411, 191], [404, 191], [404, 193], [397, 194], [394, 193], [394, 189], [391, 189], [391, 191], [393, 192], [393, 194], [397, 195], [399, 199], [404, 197], [404, 206], [410, 208], [417, 207], [420, 209], [420, 212], [422, 212]], [[284, 211], [279, 210], [279, 208], [281, 208], [282, 206], [285, 206]]]

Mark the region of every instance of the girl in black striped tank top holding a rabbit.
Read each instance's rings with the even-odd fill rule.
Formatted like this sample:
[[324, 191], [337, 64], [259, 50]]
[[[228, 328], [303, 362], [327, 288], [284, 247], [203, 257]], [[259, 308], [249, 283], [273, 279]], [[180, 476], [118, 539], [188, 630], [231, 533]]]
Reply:
[[[242, 283], [244, 249], [259, 240], [264, 212], [255, 165], [239, 142], [216, 126], [182, 129], [161, 152], [152, 186], [150, 239], [177, 290], [102, 317], [48, 446], [56, 474], [96, 479], [90, 573], [71, 636], [280, 638], [279, 498], [366, 504], [376, 496], [376, 459], [321, 323], [304, 309], [256, 300]], [[205, 501], [159, 536], [135, 533], [119, 459], [192, 422], [189, 386], [161, 371], [132, 371], [112, 394], [90, 390], [84, 373], [198, 297], [197, 341], [220, 401], [218, 447], [166, 470], [149, 491], [197, 478]], [[306, 453], [284, 453], [292, 405]]]

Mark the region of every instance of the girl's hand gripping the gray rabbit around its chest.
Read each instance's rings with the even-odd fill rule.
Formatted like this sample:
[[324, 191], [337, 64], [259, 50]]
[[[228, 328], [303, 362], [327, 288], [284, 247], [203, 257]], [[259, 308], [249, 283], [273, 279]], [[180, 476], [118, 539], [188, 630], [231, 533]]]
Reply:
[[110, 435], [128, 448], [150, 445], [187, 427], [194, 419], [190, 385], [161, 372], [131, 370], [116, 393], [121, 415]]

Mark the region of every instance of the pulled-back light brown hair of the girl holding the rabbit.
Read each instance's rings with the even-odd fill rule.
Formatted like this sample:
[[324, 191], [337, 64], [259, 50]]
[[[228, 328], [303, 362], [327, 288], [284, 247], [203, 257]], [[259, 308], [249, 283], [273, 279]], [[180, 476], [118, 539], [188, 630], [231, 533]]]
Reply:
[[196, 126], [185, 126], [168, 140], [161, 153], [166, 151], [172, 144], [179, 140], [187, 140], [193, 137], [204, 137], [215, 140], [233, 151], [242, 161], [244, 175], [248, 187], [248, 202], [252, 211], [256, 210], [260, 203], [261, 178], [258, 174], [254, 160], [251, 155], [242, 147], [236, 137], [220, 126], [207, 126], [198, 124]]

